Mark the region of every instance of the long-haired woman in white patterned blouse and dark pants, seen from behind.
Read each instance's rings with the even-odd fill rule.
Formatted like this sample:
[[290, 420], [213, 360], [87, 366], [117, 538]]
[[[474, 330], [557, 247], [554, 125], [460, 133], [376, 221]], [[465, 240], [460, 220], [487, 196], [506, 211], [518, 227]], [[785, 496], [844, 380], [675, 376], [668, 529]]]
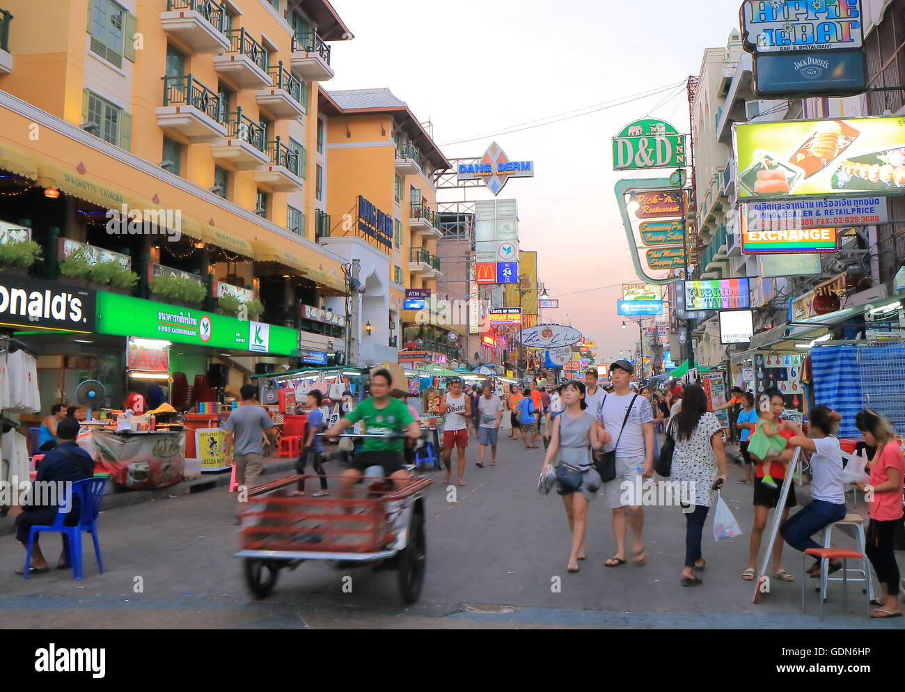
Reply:
[[[700, 538], [710, 506], [716, 501], [714, 481], [726, 482], [726, 452], [723, 449], [722, 423], [707, 410], [707, 394], [699, 384], [689, 384], [682, 396], [681, 411], [673, 418], [672, 434], [676, 446], [672, 452], [670, 479], [681, 483], [681, 502], [685, 507], [685, 567], [682, 586], [703, 583], [695, 569], [707, 562], [700, 555]], [[691, 511], [689, 508], [693, 507]]]

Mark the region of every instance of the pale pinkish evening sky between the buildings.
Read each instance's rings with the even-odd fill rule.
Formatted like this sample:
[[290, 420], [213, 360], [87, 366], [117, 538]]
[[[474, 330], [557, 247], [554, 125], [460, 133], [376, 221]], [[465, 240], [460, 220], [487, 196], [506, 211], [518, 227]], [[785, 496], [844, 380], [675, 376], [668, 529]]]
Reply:
[[[689, 131], [684, 82], [705, 48], [726, 45], [738, 1], [647, 0], [638, 12], [616, 0], [332, 4], [355, 39], [333, 44], [336, 77], [324, 88], [388, 87], [433, 123], [448, 157], [481, 156], [497, 141], [510, 159], [534, 161], [535, 176], [511, 179], [499, 197], [518, 199], [519, 247], [538, 251], [539, 280], [559, 299], [544, 320], [571, 322], [601, 360], [636, 343], [637, 323], [622, 329], [616, 317], [620, 285], [638, 279], [615, 202], [626, 175], [613, 171], [612, 137], [647, 115]], [[612, 105], [664, 87], [675, 89]], [[606, 108], [502, 134], [594, 106]]]

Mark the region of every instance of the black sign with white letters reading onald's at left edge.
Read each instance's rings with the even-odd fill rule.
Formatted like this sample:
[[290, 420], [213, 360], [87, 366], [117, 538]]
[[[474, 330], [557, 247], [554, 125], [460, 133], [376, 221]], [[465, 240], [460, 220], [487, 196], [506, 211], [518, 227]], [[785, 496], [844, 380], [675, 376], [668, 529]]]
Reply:
[[0, 273], [0, 325], [94, 331], [95, 291]]

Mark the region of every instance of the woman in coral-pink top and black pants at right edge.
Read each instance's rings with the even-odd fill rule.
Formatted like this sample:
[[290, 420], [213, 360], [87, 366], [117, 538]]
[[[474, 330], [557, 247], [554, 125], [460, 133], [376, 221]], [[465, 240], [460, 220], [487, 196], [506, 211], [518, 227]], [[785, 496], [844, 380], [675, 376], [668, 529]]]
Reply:
[[899, 565], [893, 552], [895, 530], [902, 523], [902, 451], [892, 437], [889, 423], [879, 413], [862, 411], [854, 418], [854, 426], [864, 441], [877, 448], [871, 469], [871, 484], [859, 488], [870, 504], [871, 524], [867, 527], [867, 556], [877, 573], [883, 590], [881, 603], [871, 613], [877, 620], [900, 618]]

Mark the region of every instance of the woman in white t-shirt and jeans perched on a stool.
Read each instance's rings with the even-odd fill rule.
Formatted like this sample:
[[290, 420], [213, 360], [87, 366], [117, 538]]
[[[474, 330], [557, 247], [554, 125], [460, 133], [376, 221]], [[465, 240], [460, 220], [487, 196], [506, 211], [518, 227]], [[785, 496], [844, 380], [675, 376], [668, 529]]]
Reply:
[[[800, 447], [811, 453], [811, 469], [814, 474], [811, 481], [813, 501], [779, 529], [786, 543], [802, 553], [808, 548], [824, 547], [811, 536], [845, 517], [843, 452], [835, 437], [841, 420], [842, 416], [837, 412], [826, 406], [817, 406], [811, 411], [811, 437], [805, 437], [801, 431], [797, 431], [788, 443], [790, 448]], [[841, 562], [830, 563], [829, 571], [833, 573], [841, 567]], [[808, 569], [807, 574], [813, 577], [820, 575], [820, 560]]]

